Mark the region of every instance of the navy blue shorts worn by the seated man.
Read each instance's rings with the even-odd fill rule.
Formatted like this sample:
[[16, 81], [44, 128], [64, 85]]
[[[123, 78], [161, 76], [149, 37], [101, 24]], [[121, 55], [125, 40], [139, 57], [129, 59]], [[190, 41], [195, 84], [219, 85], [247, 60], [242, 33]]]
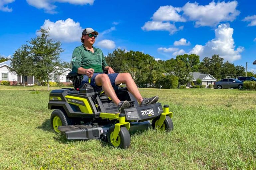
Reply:
[[[95, 91], [101, 91], [102, 90], [102, 86], [97, 86], [96, 83], [95, 83], [95, 77], [96, 75], [98, 74], [105, 74], [105, 73], [94, 73], [92, 78], [91, 78], [91, 83], [90, 85], [94, 88]], [[119, 73], [112, 73], [112, 74], [107, 74], [109, 79], [110, 79], [110, 83], [112, 85], [112, 87], [114, 88], [114, 90], [118, 89], [118, 85], [115, 84], [115, 81], [116, 81], [116, 77]], [[84, 83], [88, 83], [89, 81], [89, 78], [87, 75], [84, 75], [83, 76], [83, 80], [81, 82], [81, 85], [84, 84]]]

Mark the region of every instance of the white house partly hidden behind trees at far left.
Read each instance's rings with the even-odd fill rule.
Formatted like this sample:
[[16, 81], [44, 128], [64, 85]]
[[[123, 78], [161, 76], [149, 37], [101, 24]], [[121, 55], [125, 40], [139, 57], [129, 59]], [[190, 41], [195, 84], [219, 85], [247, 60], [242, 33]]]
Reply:
[[[8, 67], [10, 68], [10, 64], [11, 60], [0, 63], [0, 82], [9, 81], [11, 85], [23, 83], [23, 77], [21, 75], [13, 74], [9, 71]], [[64, 71], [61, 73], [61, 75], [54, 76], [55, 78], [52, 81], [61, 82], [65, 85], [69, 85], [69, 83], [72, 83], [72, 81], [66, 79], [66, 75], [69, 72], [71, 72], [70, 68], [64, 68]], [[24, 79], [25, 82], [28, 83], [28, 85], [34, 85], [35, 83], [37, 83], [37, 79], [35, 79], [34, 76], [25, 76]]]

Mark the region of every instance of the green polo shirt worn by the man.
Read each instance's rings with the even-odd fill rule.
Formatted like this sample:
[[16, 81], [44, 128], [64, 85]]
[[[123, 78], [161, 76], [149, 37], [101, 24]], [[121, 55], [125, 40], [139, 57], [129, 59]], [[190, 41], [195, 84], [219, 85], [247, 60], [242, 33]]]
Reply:
[[93, 47], [94, 53], [86, 50], [84, 45], [76, 47], [72, 55], [72, 71], [77, 72], [79, 67], [93, 68], [94, 73], [103, 72], [103, 69], [108, 66], [102, 51], [99, 48]]

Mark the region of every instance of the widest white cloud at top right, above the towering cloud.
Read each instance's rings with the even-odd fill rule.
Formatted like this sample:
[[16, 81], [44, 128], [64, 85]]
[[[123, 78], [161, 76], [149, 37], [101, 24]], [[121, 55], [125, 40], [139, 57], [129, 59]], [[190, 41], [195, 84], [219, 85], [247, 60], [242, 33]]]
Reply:
[[205, 6], [198, 5], [197, 2], [188, 2], [182, 9], [184, 15], [191, 21], [195, 21], [195, 26], [215, 26], [222, 21], [234, 21], [240, 14], [236, 7], [237, 1], [227, 3], [212, 1]]

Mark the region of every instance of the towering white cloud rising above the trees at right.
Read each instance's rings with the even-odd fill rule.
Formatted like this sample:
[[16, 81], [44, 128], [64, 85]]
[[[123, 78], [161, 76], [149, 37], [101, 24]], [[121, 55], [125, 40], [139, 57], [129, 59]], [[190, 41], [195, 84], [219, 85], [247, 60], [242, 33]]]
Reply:
[[233, 28], [230, 28], [227, 24], [220, 24], [215, 29], [215, 38], [208, 41], [204, 46], [196, 45], [189, 54], [197, 54], [201, 58], [211, 57], [214, 54], [218, 54], [224, 60], [233, 62], [241, 59], [240, 53], [244, 50], [244, 47], [238, 47], [235, 50], [233, 35]]

